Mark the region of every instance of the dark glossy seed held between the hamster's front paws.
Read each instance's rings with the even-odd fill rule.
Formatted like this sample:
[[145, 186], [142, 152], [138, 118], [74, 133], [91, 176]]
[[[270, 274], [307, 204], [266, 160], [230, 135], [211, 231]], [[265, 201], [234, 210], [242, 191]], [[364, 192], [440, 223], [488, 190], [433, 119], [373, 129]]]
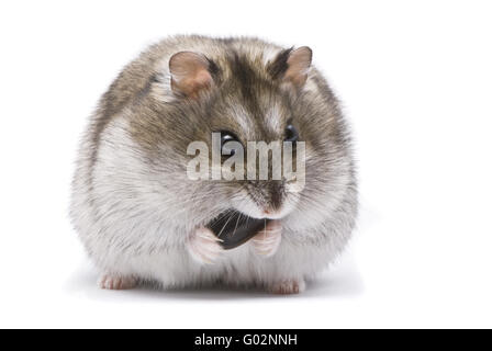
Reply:
[[228, 210], [212, 219], [206, 227], [223, 240], [222, 247], [230, 250], [245, 244], [259, 230], [264, 230], [269, 220], [253, 218], [238, 211]]

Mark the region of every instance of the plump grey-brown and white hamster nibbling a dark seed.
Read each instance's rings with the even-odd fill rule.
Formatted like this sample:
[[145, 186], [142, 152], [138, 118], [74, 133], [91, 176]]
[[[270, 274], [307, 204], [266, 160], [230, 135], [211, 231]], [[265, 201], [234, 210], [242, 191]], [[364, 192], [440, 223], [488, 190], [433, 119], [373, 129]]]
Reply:
[[[302, 190], [286, 179], [190, 179], [188, 146], [211, 145], [217, 132], [243, 145], [294, 133], [305, 145]], [[232, 212], [266, 225], [226, 250], [210, 224]], [[79, 148], [70, 205], [109, 290], [300, 293], [346, 247], [356, 215], [350, 131], [312, 50], [197, 35], [150, 46], [103, 94]]]

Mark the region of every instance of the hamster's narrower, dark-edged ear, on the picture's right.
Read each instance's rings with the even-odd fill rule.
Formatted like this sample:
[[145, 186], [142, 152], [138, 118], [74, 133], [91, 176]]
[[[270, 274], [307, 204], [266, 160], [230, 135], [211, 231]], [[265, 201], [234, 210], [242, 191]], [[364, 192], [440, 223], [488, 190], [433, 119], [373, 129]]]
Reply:
[[273, 78], [281, 78], [284, 82], [302, 88], [308, 79], [312, 58], [313, 52], [308, 46], [289, 48], [281, 52], [268, 69]]

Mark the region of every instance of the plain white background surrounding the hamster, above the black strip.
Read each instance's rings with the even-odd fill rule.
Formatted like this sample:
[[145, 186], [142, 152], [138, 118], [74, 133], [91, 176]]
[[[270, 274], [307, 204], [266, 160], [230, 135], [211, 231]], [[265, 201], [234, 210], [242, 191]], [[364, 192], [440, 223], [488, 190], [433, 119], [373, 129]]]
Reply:
[[[2, 1], [0, 327], [492, 327], [487, 1]], [[88, 115], [178, 33], [309, 45], [354, 125], [356, 238], [300, 296], [100, 291], [67, 218]]]

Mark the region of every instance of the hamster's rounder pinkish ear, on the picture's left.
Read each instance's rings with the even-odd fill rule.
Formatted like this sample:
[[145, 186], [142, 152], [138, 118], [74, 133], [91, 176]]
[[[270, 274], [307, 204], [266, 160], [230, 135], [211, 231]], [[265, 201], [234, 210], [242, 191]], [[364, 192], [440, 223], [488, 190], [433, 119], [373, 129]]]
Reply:
[[213, 78], [211, 61], [202, 54], [180, 52], [169, 59], [171, 89], [175, 93], [188, 98], [198, 98], [200, 91], [210, 89]]

